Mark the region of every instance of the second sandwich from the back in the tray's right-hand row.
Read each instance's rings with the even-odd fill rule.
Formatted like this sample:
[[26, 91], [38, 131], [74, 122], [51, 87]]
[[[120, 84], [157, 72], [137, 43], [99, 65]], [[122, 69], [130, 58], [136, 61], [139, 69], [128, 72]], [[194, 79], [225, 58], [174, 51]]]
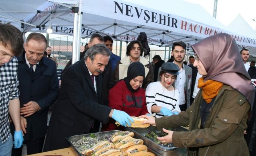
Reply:
[[136, 144], [143, 144], [143, 140], [134, 139], [131, 136], [127, 136], [126, 138], [124, 138], [123, 140], [121, 140], [119, 143], [117, 143], [115, 145], [115, 149], [120, 149], [121, 150], [122, 148], [127, 148], [127, 147], [130, 147], [132, 145], [136, 145]]

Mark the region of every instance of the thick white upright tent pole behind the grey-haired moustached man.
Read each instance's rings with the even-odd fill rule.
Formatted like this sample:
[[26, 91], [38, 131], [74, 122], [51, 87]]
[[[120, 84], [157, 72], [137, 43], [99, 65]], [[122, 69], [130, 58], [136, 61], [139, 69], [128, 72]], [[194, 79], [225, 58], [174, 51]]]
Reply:
[[79, 7], [73, 7], [74, 12], [74, 29], [73, 29], [73, 49], [72, 49], [72, 64], [79, 60], [80, 55], [80, 35], [82, 13], [79, 12]]

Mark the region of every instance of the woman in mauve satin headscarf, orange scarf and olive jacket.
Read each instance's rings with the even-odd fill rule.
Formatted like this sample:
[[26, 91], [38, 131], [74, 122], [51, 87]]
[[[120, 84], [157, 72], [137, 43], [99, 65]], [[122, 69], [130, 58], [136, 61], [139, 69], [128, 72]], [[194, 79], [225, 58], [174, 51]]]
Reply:
[[[255, 89], [245, 70], [238, 46], [228, 34], [207, 37], [191, 46], [195, 52], [194, 66], [202, 77], [200, 91], [193, 104], [171, 117], [150, 123], [168, 135], [158, 138], [176, 147], [188, 147], [189, 156], [248, 156], [244, 130], [251, 111]], [[164, 128], [189, 125], [187, 132]]]

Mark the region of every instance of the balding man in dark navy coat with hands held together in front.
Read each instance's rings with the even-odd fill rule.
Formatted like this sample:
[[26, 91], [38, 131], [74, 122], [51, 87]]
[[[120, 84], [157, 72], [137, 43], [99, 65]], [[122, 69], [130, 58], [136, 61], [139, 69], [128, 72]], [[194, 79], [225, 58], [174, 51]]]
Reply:
[[[59, 83], [55, 63], [43, 57], [47, 40], [40, 33], [31, 33], [24, 43], [25, 52], [18, 56], [18, 89], [20, 90], [21, 128], [27, 153], [42, 152], [47, 130], [48, 108], [55, 102]], [[14, 131], [11, 123], [12, 131]], [[13, 149], [20, 156], [22, 147]]]

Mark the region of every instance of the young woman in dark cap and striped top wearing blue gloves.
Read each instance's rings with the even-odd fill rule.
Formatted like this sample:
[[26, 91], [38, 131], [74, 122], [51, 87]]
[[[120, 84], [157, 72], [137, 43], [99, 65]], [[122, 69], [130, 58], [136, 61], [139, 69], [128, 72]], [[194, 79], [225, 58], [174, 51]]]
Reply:
[[146, 104], [148, 112], [156, 117], [177, 115], [179, 108], [179, 91], [173, 87], [174, 80], [179, 74], [179, 67], [172, 63], [162, 64], [161, 81], [153, 82], [146, 88]]

